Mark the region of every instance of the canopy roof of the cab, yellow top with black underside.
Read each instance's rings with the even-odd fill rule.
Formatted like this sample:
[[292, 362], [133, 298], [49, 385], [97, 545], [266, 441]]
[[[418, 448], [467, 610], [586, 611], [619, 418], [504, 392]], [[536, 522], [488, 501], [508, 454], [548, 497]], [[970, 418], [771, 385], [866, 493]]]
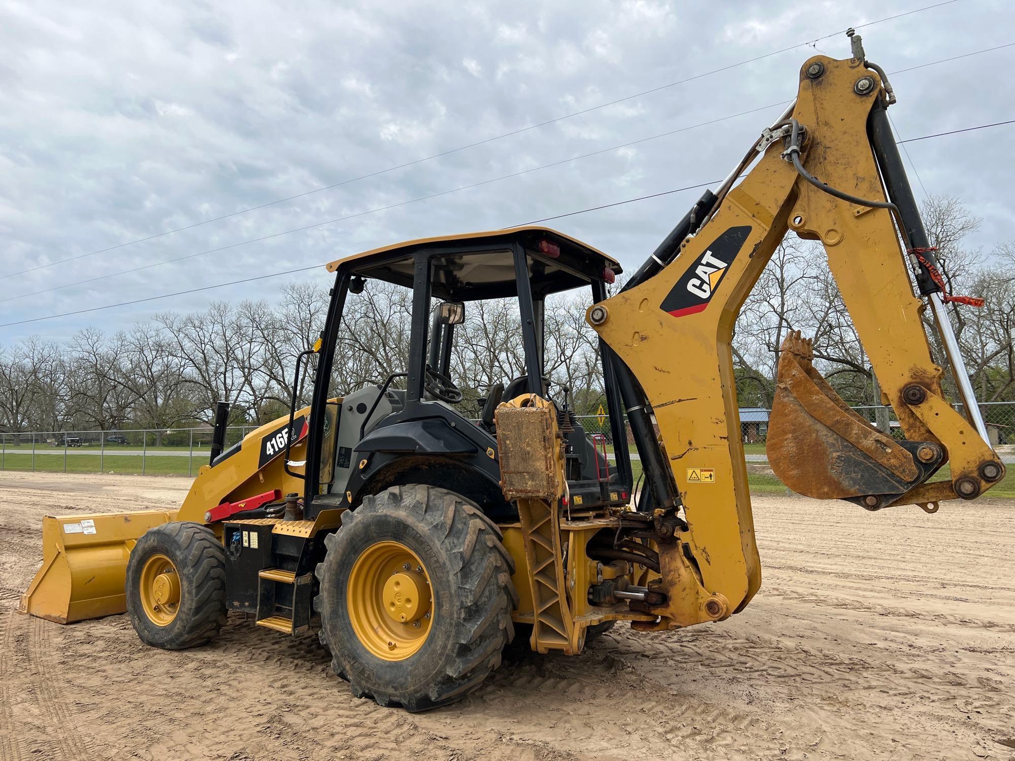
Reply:
[[513, 254], [516, 247], [528, 255], [529, 282], [536, 298], [585, 286], [593, 280], [612, 281], [613, 275], [621, 272], [617, 260], [548, 227], [512, 227], [407, 240], [336, 260], [328, 265], [328, 271], [347, 268], [353, 275], [411, 288], [415, 255], [426, 253], [432, 263], [433, 296], [449, 301], [502, 298], [518, 293]]

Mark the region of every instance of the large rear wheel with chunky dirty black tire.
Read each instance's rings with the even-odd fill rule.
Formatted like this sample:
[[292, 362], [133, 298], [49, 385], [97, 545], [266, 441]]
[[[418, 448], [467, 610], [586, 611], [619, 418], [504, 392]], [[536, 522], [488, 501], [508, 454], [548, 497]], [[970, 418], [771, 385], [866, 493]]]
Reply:
[[[364, 497], [357, 509], [342, 514], [342, 528], [325, 539], [328, 550], [316, 571], [321, 594], [314, 603], [332, 668], [348, 680], [353, 695], [420, 711], [460, 700], [482, 684], [500, 665], [515, 633], [514, 563], [500, 540], [500, 530], [479, 507], [433, 486], [396, 486]], [[430, 606], [432, 618], [422, 622], [428, 629], [421, 643], [399, 640], [398, 627], [411, 621], [393, 619], [390, 629], [392, 624], [382, 620], [389, 627], [385, 631], [394, 632], [385, 639], [395, 646], [379, 655], [362, 622], [393, 606], [387, 599], [380, 605], [370, 601], [355, 580], [361, 577], [357, 561], [396, 545], [418, 558], [428, 582], [419, 589], [430, 596], [421, 603]], [[400, 573], [385, 568], [379, 577]], [[355, 610], [350, 612], [350, 605]], [[366, 631], [364, 638], [356, 626]]]

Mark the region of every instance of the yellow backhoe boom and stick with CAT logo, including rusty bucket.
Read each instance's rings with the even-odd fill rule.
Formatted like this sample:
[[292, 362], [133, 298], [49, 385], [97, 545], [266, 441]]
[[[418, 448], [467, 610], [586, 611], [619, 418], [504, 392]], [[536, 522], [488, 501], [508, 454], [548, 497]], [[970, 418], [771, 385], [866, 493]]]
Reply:
[[[926, 243], [913, 240], [919, 235], [907, 219], [902, 226], [910, 251], [903, 252], [893, 219], [897, 207], [888, 208], [883, 181], [889, 189], [904, 184], [906, 192], [908, 185], [904, 176], [883, 176], [869, 137], [872, 125], [885, 118], [883, 111], [872, 112], [893, 100], [876, 68], [868, 68], [862, 50], [852, 60], [808, 60], [790, 118], [765, 132], [753, 168], [736, 187], [740, 168], [731, 176], [730, 189], [720, 190], [712, 216], [684, 238], [679, 255], [588, 312], [655, 413], [659, 462], [674, 487], [669, 503], [656, 505], [657, 520], [672, 512], [685, 522], [676, 524], [671, 543], [660, 546], [661, 583], [670, 602], [652, 610], [662, 616], [654, 628], [725, 618], [760, 584], [730, 344], [744, 300], [790, 230], [823, 244], [907, 441], [882, 435], [852, 414], [811, 367], [809, 342], [794, 334], [780, 363], [769, 428], [776, 475], [799, 492], [874, 509], [971, 498], [1004, 475], [977, 432], [978, 410], [969, 411], [970, 422], [942, 395], [942, 368], [931, 357], [922, 321], [925, 302], [915, 295], [907, 269], [923, 251], [912, 249]], [[804, 171], [843, 197], [816, 187], [795, 167], [794, 151], [787, 150], [792, 120]], [[919, 218], [917, 223], [922, 235]], [[933, 254], [924, 255], [933, 264], [927, 260]], [[932, 305], [940, 305], [926, 270], [916, 270], [918, 284]], [[960, 379], [964, 368], [955, 355], [950, 359]], [[624, 402], [633, 416], [637, 405]], [[946, 460], [951, 481], [924, 485]], [[651, 457], [648, 463], [647, 469]], [[650, 481], [652, 476], [647, 473]]]

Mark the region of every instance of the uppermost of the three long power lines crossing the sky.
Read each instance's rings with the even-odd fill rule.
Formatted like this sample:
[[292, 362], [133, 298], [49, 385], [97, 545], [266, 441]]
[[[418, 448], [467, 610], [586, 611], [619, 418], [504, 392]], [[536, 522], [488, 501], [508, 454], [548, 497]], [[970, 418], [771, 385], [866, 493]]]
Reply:
[[[884, 18], [879, 18], [876, 21], [868, 21], [866, 23], [857, 24], [853, 28], [860, 29], [860, 28], [864, 28], [864, 27], [867, 27], [867, 26], [873, 26], [875, 24], [882, 23], [884, 21], [892, 21], [892, 20], [894, 20], [896, 18], [902, 18], [903, 16], [912, 15], [915, 13], [922, 13], [923, 11], [933, 10], [934, 8], [940, 8], [943, 5], [951, 5], [952, 3], [955, 3], [955, 2], [958, 2], [958, 0], [944, 0], [944, 2], [935, 3], [933, 5], [926, 5], [926, 6], [922, 7], [922, 8], [915, 8], [912, 10], [908, 10], [908, 11], [905, 11], [903, 13], [896, 13], [893, 16], [886, 16]], [[686, 79], [679, 79], [679, 80], [677, 80], [675, 82], [670, 82], [668, 84], [663, 84], [663, 85], [659, 85], [657, 87], [652, 87], [650, 89], [641, 90], [640, 92], [635, 92], [635, 93], [632, 93], [630, 95], [624, 95], [623, 97], [618, 97], [618, 98], [616, 98], [614, 100], [609, 100], [609, 101], [606, 101], [606, 102], [603, 102], [603, 103], [599, 103], [598, 106], [591, 106], [588, 109], [583, 109], [581, 111], [576, 111], [576, 112], [572, 112], [570, 114], [565, 114], [565, 115], [560, 116], [560, 117], [555, 117], [553, 119], [548, 119], [548, 120], [546, 120], [544, 122], [538, 122], [538, 123], [535, 123], [535, 124], [531, 124], [531, 125], [528, 125], [527, 127], [521, 127], [521, 128], [519, 128], [517, 130], [512, 130], [511, 132], [505, 132], [505, 133], [500, 134], [500, 135], [494, 135], [493, 137], [485, 138], [483, 140], [477, 140], [476, 142], [468, 143], [466, 145], [461, 145], [461, 146], [459, 146], [457, 148], [450, 148], [448, 150], [441, 151], [438, 153], [433, 153], [432, 155], [424, 156], [422, 158], [417, 158], [417, 159], [414, 159], [412, 161], [406, 161], [405, 163], [400, 163], [400, 164], [397, 164], [395, 166], [389, 166], [389, 167], [384, 168], [384, 169], [378, 169], [376, 171], [370, 171], [370, 172], [367, 172], [365, 175], [360, 175], [359, 177], [350, 178], [348, 180], [343, 180], [342, 182], [339, 182], [339, 183], [334, 183], [332, 185], [326, 185], [326, 186], [323, 186], [321, 188], [315, 188], [313, 190], [304, 191], [302, 193], [297, 193], [297, 194], [295, 194], [293, 196], [288, 196], [286, 198], [279, 198], [279, 199], [276, 199], [274, 201], [268, 201], [266, 203], [259, 204], [257, 206], [251, 206], [251, 207], [249, 207], [247, 209], [241, 209], [240, 211], [234, 211], [234, 212], [231, 212], [229, 214], [222, 214], [221, 216], [212, 217], [212, 218], [209, 218], [209, 219], [204, 219], [204, 220], [202, 220], [200, 222], [194, 222], [193, 224], [184, 225], [182, 227], [176, 227], [174, 229], [163, 230], [162, 232], [157, 232], [157, 233], [155, 233], [153, 235], [148, 235], [146, 237], [139, 237], [139, 238], [136, 238], [134, 240], [127, 240], [127, 241], [122, 243], [122, 244], [117, 244], [116, 246], [110, 246], [110, 247], [108, 247], [106, 249], [97, 249], [95, 251], [91, 251], [91, 252], [88, 252], [86, 254], [78, 254], [77, 256], [67, 257], [66, 259], [60, 259], [60, 260], [57, 260], [55, 262], [50, 262], [48, 264], [37, 265], [35, 267], [29, 267], [28, 269], [18, 270], [17, 272], [10, 272], [10, 273], [7, 273], [6, 275], [0, 275], [0, 280], [8, 278], [8, 277], [14, 277], [15, 275], [23, 275], [23, 274], [26, 274], [28, 272], [35, 272], [37, 270], [46, 269], [48, 267], [53, 267], [53, 266], [58, 265], [58, 264], [64, 264], [66, 262], [74, 262], [74, 261], [77, 261], [78, 259], [84, 259], [86, 257], [95, 256], [96, 254], [105, 254], [107, 252], [116, 251], [117, 249], [123, 249], [123, 248], [128, 247], [128, 246], [134, 246], [135, 244], [141, 244], [141, 243], [146, 243], [148, 240], [154, 240], [155, 238], [163, 237], [165, 235], [172, 235], [172, 234], [174, 234], [176, 232], [183, 232], [184, 230], [193, 229], [194, 227], [200, 227], [201, 225], [210, 224], [212, 222], [219, 222], [219, 221], [221, 221], [223, 219], [228, 219], [230, 217], [239, 216], [241, 214], [247, 214], [247, 213], [249, 213], [251, 211], [257, 211], [259, 209], [264, 209], [264, 208], [267, 208], [269, 206], [275, 206], [277, 204], [285, 203], [287, 201], [294, 201], [297, 198], [303, 198], [306, 196], [310, 196], [310, 195], [313, 195], [315, 193], [321, 193], [321, 192], [326, 191], [326, 190], [333, 190], [335, 188], [339, 188], [339, 187], [342, 187], [344, 185], [350, 185], [352, 183], [357, 183], [357, 182], [359, 182], [361, 180], [367, 180], [369, 178], [375, 178], [375, 177], [378, 177], [380, 175], [385, 175], [385, 174], [387, 174], [389, 171], [395, 171], [397, 169], [403, 169], [403, 168], [406, 168], [408, 166], [413, 166], [413, 165], [418, 164], [418, 163], [423, 163], [424, 161], [430, 161], [430, 160], [435, 159], [435, 158], [441, 158], [443, 156], [448, 156], [448, 155], [451, 155], [453, 153], [458, 153], [458, 152], [463, 151], [463, 150], [468, 150], [469, 148], [475, 148], [475, 147], [478, 147], [480, 145], [486, 145], [487, 143], [492, 143], [492, 142], [495, 142], [497, 140], [502, 140], [504, 138], [512, 137], [514, 135], [520, 135], [520, 134], [522, 134], [524, 132], [529, 132], [531, 130], [539, 129], [541, 127], [546, 127], [546, 126], [549, 126], [551, 124], [556, 124], [556, 123], [562, 122], [562, 121], [564, 121], [566, 119], [572, 119], [573, 117], [582, 116], [584, 114], [590, 114], [590, 113], [592, 113], [594, 111], [599, 111], [601, 109], [605, 109], [605, 108], [610, 107], [610, 106], [616, 106], [617, 103], [625, 102], [627, 100], [632, 100], [634, 98], [641, 97], [644, 95], [649, 95], [649, 94], [652, 94], [654, 92], [659, 92], [661, 90], [669, 89], [670, 87], [675, 87], [675, 86], [677, 86], [679, 84], [685, 84], [687, 82], [691, 82], [691, 81], [694, 81], [696, 79], [702, 79], [704, 77], [712, 76], [713, 74], [719, 74], [721, 72], [729, 71], [730, 69], [735, 69], [735, 68], [738, 68], [740, 66], [746, 66], [747, 64], [755, 63], [755, 62], [760, 61], [760, 60], [765, 59], [765, 58], [771, 58], [772, 56], [777, 56], [777, 55], [780, 55], [782, 53], [787, 53], [787, 52], [789, 52], [791, 50], [795, 50], [796, 48], [800, 48], [802, 46], [812, 45], [813, 43], [818, 43], [818, 42], [820, 42], [822, 40], [828, 40], [829, 38], [836, 37], [837, 34], [841, 34], [841, 33], [845, 32], [845, 31], [847, 31], [847, 29], [840, 29], [838, 31], [833, 31], [830, 34], [825, 34], [824, 37], [819, 37], [816, 40], [808, 40], [808, 41], [803, 42], [803, 43], [798, 43], [797, 45], [792, 45], [789, 48], [783, 48], [782, 50], [773, 51], [771, 53], [765, 53], [763, 55], [756, 56], [756, 57], [748, 59], [746, 61], [740, 61], [738, 63], [730, 64], [728, 66], [723, 66], [723, 67], [718, 68], [718, 69], [713, 69], [712, 71], [703, 72], [701, 74], [695, 74], [694, 76], [687, 77]]]

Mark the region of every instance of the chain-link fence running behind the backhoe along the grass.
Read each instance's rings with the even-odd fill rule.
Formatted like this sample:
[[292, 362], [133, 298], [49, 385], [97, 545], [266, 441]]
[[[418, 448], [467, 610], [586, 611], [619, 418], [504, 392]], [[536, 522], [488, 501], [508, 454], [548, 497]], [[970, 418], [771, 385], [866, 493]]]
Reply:
[[[854, 407], [875, 425], [887, 427], [901, 437], [898, 419], [890, 407]], [[961, 406], [956, 405], [961, 412]], [[987, 402], [979, 405], [991, 443], [1015, 444], [1015, 403]], [[764, 461], [770, 410], [744, 407], [740, 410], [741, 439], [749, 461]], [[612, 460], [613, 434], [607, 415], [579, 415], [588, 434], [602, 435]], [[238, 425], [226, 429], [228, 447], [258, 426]], [[637, 452], [627, 430], [631, 459]], [[0, 432], [0, 470], [49, 473], [119, 473], [124, 475], [194, 476], [208, 463], [211, 427], [170, 430], [25, 431]], [[640, 464], [634, 466], [640, 473]]]

